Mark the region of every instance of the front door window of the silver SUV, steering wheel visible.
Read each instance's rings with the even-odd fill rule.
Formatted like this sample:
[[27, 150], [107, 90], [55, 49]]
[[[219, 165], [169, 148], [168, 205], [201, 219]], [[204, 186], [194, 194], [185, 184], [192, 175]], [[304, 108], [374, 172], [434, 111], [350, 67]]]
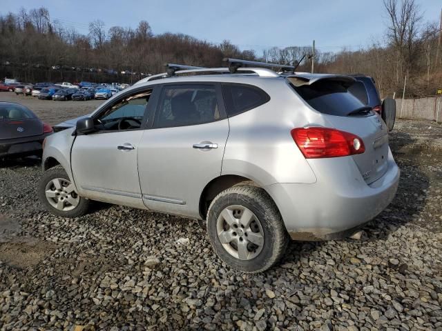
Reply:
[[99, 130], [130, 130], [141, 127], [152, 90], [137, 92], [113, 103], [95, 119]]

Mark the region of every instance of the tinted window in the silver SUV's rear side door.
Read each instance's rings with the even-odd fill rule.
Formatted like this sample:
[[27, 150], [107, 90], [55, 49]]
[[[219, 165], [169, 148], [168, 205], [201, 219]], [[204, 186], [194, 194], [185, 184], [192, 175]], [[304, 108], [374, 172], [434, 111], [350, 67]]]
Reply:
[[215, 86], [164, 86], [153, 127], [193, 126], [218, 119]]

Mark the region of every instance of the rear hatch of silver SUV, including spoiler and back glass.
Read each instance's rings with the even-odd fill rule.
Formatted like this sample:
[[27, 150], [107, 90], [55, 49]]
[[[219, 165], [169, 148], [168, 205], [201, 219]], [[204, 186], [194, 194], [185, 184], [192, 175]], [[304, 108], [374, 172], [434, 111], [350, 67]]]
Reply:
[[354, 79], [324, 76], [322, 79], [289, 77], [291, 86], [311, 108], [321, 112], [332, 128], [356, 134], [365, 152], [352, 155], [366, 183], [373, 183], [387, 171], [388, 134], [385, 123], [372, 108], [348, 92]]

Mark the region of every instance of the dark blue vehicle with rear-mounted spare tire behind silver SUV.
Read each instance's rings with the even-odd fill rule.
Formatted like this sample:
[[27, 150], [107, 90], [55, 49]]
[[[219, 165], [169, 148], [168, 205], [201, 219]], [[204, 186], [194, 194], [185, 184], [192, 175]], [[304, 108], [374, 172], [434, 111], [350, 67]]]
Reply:
[[390, 98], [381, 101], [376, 89], [376, 82], [372, 77], [362, 74], [352, 74], [351, 76], [356, 79], [356, 82], [349, 87], [349, 92], [365, 105], [372, 107], [387, 124], [388, 130], [392, 131], [396, 119], [396, 101]]

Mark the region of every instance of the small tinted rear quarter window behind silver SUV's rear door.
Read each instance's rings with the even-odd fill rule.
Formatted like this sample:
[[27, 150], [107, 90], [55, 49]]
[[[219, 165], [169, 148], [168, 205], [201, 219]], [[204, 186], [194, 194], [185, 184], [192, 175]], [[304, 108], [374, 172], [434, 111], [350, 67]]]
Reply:
[[270, 100], [266, 92], [255, 86], [222, 84], [222, 94], [229, 117], [261, 106]]

